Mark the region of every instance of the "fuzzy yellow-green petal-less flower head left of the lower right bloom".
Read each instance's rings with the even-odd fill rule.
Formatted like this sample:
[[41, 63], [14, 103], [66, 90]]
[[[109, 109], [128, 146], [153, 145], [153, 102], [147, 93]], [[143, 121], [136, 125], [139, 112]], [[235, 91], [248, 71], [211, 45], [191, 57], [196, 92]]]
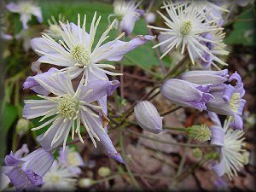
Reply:
[[212, 133], [206, 125], [193, 125], [187, 128], [188, 136], [203, 143], [210, 140]]

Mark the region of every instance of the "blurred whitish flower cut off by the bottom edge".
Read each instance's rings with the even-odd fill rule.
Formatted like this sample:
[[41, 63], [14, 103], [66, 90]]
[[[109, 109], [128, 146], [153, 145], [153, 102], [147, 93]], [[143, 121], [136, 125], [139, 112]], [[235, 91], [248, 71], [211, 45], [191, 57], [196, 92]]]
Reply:
[[55, 160], [43, 179], [44, 184], [40, 187], [42, 191], [74, 191], [78, 174], [70, 172], [67, 166], [63, 166], [59, 161]]

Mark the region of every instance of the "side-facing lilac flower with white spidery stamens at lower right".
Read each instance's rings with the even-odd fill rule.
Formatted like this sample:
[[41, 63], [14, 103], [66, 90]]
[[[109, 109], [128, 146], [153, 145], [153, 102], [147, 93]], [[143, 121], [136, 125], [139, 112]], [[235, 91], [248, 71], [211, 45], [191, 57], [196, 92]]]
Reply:
[[231, 129], [230, 118], [224, 121], [222, 127], [216, 113], [209, 113], [209, 116], [215, 123], [215, 125], [210, 126], [212, 131], [211, 144], [216, 146], [220, 159], [218, 164], [212, 165], [212, 171], [218, 177], [227, 173], [231, 179], [244, 166], [243, 153], [246, 151], [244, 149], [244, 132]]

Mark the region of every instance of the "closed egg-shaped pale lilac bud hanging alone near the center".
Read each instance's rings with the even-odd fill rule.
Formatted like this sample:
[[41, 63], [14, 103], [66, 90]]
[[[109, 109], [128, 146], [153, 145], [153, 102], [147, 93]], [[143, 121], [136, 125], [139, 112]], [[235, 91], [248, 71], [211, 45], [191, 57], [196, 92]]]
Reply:
[[162, 118], [151, 102], [138, 102], [134, 108], [138, 125], [145, 131], [160, 133], [162, 131]]

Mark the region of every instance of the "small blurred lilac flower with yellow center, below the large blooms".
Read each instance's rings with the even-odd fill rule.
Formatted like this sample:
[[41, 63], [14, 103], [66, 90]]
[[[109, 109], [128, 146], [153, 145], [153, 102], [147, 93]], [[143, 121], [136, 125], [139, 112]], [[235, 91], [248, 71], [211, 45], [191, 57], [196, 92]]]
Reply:
[[63, 166], [67, 166], [70, 172], [74, 174], [80, 174], [81, 169], [79, 166], [84, 166], [84, 160], [81, 155], [75, 151], [74, 148], [69, 148], [68, 146], [63, 150], [59, 150], [59, 162]]

